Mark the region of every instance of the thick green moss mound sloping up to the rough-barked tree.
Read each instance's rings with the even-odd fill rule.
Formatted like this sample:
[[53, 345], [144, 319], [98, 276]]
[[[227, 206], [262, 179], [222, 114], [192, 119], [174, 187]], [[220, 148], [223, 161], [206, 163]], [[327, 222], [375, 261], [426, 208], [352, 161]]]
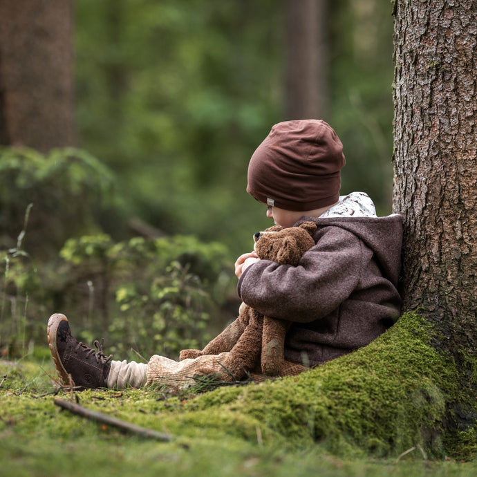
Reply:
[[442, 457], [449, 452], [442, 444], [446, 404], [459, 378], [451, 359], [429, 345], [432, 335], [418, 314], [407, 313], [366, 348], [297, 377], [205, 393], [180, 422], [252, 440], [258, 428], [264, 442], [319, 441], [341, 456], [397, 455], [422, 445]]

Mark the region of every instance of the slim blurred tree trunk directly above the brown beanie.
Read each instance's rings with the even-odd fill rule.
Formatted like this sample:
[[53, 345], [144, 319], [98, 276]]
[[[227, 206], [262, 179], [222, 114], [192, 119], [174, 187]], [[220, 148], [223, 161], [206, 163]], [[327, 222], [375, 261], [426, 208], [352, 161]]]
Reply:
[[326, 0], [286, 0], [286, 119], [326, 113], [328, 28]]

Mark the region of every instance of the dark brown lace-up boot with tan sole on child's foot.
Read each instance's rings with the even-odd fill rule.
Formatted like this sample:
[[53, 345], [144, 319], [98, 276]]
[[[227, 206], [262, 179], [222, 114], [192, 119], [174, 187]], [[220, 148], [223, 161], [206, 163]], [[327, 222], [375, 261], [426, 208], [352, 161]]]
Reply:
[[103, 344], [95, 341], [97, 352], [71, 336], [68, 319], [55, 313], [48, 319], [48, 344], [57, 373], [66, 386], [105, 388], [113, 355], [106, 357]]

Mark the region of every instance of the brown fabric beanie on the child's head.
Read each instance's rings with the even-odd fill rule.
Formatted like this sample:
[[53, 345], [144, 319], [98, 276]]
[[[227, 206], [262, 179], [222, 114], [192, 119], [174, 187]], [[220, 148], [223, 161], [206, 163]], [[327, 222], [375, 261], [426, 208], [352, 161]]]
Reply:
[[279, 122], [250, 159], [247, 192], [280, 209], [319, 209], [337, 202], [344, 163], [343, 144], [326, 122]]

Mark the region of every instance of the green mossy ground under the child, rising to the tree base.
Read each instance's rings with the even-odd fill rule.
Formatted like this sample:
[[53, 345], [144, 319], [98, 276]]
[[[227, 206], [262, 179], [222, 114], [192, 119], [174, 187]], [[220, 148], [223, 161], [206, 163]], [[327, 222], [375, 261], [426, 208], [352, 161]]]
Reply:
[[[148, 387], [56, 396], [48, 353], [0, 361], [0, 474], [475, 475], [477, 463], [460, 460], [473, 458], [476, 428], [443, 428], [459, 378], [427, 344], [431, 333], [404, 315], [370, 346], [297, 377], [200, 395]], [[124, 435], [61, 411], [55, 397], [174, 441]], [[471, 398], [461, 395], [460, 409]]]

